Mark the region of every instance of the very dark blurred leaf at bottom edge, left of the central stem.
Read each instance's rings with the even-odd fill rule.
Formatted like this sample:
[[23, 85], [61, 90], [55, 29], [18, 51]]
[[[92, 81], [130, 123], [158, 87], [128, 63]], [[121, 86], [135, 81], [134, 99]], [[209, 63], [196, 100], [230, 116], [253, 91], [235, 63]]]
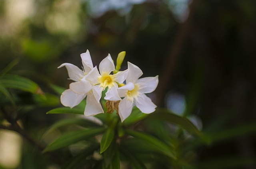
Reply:
[[88, 146], [86, 149], [84, 149], [84, 152], [76, 155], [75, 157], [71, 158], [68, 160], [62, 167], [61, 169], [79, 169], [80, 167], [86, 165], [87, 163], [90, 163], [88, 159], [86, 160], [86, 157], [89, 155], [92, 155], [94, 151], [96, 151], [100, 145], [94, 144]]

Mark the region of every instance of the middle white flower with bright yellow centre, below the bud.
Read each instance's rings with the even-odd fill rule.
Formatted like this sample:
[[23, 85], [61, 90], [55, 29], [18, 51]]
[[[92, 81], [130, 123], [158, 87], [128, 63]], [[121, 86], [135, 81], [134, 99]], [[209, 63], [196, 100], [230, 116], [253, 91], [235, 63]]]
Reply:
[[105, 90], [106, 87], [108, 87], [108, 90], [104, 99], [122, 100], [117, 92], [117, 83], [123, 83], [125, 81], [128, 76], [128, 69], [125, 71], [119, 71], [114, 75], [110, 75], [110, 73], [115, 70], [115, 66], [110, 54], [108, 54], [108, 56], [100, 62], [99, 70], [100, 73], [98, 72], [98, 69], [94, 67], [86, 77], [86, 79], [94, 85], [92, 87], [92, 91], [97, 102], [100, 101], [102, 91]]

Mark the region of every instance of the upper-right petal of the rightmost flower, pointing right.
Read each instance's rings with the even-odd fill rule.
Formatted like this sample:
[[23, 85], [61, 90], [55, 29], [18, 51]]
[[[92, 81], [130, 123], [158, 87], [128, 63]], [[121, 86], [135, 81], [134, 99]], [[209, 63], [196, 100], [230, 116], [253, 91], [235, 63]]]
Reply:
[[158, 85], [158, 76], [144, 77], [144, 78], [138, 79], [138, 81], [136, 81], [136, 84], [139, 84], [140, 92], [151, 93], [156, 89], [156, 86]]

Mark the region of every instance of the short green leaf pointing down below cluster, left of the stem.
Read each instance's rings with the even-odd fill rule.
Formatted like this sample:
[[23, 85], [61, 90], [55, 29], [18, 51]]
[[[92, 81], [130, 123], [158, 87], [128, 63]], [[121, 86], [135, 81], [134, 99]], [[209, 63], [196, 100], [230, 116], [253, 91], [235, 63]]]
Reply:
[[114, 128], [109, 127], [100, 140], [100, 153], [103, 153], [114, 139]]

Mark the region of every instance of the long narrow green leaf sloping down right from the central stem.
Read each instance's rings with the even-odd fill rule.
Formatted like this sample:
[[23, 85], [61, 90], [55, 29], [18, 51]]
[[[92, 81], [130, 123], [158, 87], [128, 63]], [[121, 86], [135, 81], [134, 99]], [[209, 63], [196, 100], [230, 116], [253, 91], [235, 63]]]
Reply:
[[154, 138], [153, 136], [144, 134], [142, 132], [136, 132], [136, 131], [132, 131], [132, 130], [125, 130], [125, 132], [136, 139], [150, 143], [150, 145], [152, 147], [154, 147], [158, 151], [164, 153], [168, 157], [171, 157], [172, 159], [177, 158], [176, 153], [174, 151], [172, 151], [171, 147], [166, 145], [166, 143], [163, 143], [162, 141], [158, 140], [157, 138]]

